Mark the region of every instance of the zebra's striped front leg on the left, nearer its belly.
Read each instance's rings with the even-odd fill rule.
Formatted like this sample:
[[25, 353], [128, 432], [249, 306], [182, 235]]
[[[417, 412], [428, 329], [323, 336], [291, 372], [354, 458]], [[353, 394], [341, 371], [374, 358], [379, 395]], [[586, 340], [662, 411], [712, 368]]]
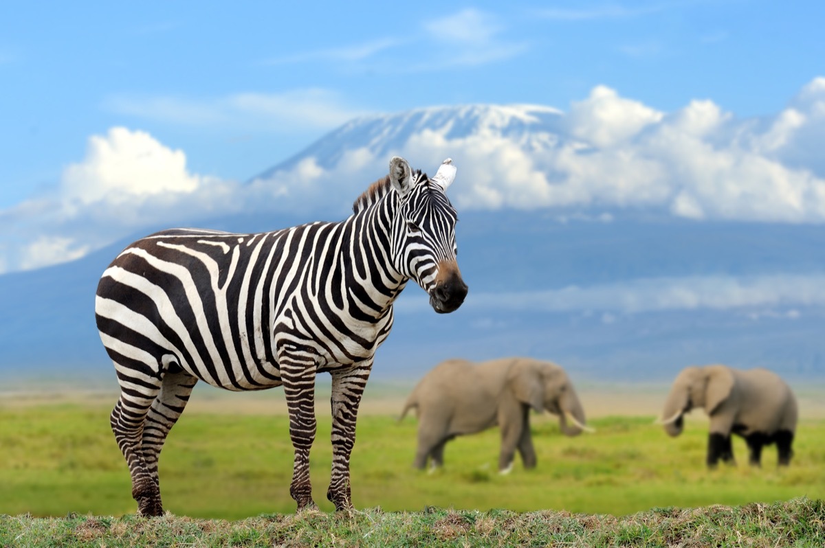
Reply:
[[316, 508], [309, 481], [309, 449], [315, 441], [315, 363], [305, 356], [285, 356], [278, 360], [290, 413], [290, 438], [295, 448], [290, 494], [298, 509]]

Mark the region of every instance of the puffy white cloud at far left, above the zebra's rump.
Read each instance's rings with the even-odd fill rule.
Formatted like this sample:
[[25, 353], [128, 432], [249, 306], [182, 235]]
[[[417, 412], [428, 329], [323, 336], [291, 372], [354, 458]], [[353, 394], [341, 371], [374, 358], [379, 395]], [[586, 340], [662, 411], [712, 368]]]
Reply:
[[239, 211], [238, 184], [198, 176], [186, 155], [148, 133], [112, 128], [54, 190], [0, 212], [3, 268], [77, 259], [141, 228]]

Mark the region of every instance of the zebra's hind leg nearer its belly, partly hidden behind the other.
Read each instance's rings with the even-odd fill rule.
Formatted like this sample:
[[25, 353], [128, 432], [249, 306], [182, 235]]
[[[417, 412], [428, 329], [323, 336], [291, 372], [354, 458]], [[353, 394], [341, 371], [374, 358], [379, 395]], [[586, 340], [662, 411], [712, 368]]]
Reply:
[[[163, 376], [160, 393], [153, 401], [146, 416], [143, 433], [144, 460], [158, 488], [160, 486], [158, 458], [163, 449], [163, 443], [172, 426], [177, 423], [177, 419], [183, 413], [196, 382], [198, 382], [197, 377], [192, 377], [187, 372], [167, 372]], [[160, 504], [160, 499], [158, 499], [158, 504]]]

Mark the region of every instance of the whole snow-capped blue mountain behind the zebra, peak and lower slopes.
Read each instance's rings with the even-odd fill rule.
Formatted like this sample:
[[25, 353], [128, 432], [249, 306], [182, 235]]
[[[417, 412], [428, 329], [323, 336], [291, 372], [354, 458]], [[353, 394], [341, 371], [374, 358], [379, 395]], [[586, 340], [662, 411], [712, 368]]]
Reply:
[[[356, 119], [249, 183], [311, 160], [336, 176], [314, 183], [321, 194], [323, 185], [342, 185], [336, 192], [348, 196], [347, 204], [323, 215], [267, 212], [262, 205], [197, 224], [252, 232], [345, 218], [348, 204], [385, 172], [388, 157], [414, 148], [413, 138], [422, 134], [452, 142], [493, 135], [536, 157], [536, 165], [545, 152], [577, 143], [559, 111], [540, 106], [444, 107]], [[358, 150], [379, 163], [342, 176], [342, 160]], [[429, 150], [433, 157], [452, 155]], [[456, 163], [461, 179], [468, 164]], [[473, 180], [455, 186], [461, 184]], [[377, 354], [374, 378], [417, 379], [451, 357], [522, 354], [552, 359], [574, 379], [667, 382], [688, 364], [712, 362], [763, 366], [796, 381], [825, 379], [820, 225], [694, 221], [643, 208], [456, 204], [467, 300], [452, 314], [436, 315], [422, 290], [409, 285], [398, 300], [393, 333]], [[170, 219], [169, 226], [175, 224]], [[0, 375], [113, 379], [94, 326], [97, 279], [128, 241], [156, 228], [73, 262], [0, 275]]]

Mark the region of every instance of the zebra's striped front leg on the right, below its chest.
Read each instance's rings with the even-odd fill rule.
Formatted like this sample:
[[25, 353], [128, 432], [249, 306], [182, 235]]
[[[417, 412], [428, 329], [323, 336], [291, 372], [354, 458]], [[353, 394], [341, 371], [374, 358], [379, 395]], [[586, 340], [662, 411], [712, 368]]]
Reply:
[[372, 360], [347, 370], [332, 371], [332, 474], [327, 499], [336, 510], [352, 508], [350, 455], [356, 443], [356, 418], [370, 377]]

